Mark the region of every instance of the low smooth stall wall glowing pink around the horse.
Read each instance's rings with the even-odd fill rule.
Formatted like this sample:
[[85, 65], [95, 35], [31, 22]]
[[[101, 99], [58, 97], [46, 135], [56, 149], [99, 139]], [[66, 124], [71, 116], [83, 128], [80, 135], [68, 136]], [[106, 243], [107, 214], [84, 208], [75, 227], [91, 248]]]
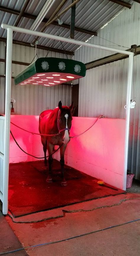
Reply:
[[[92, 117], [73, 117], [70, 135], [82, 133], [95, 120]], [[38, 133], [39, 116], [12, 115], [11, 122]], [[65, 152], [65, 164], [123, 189], [125, 124], [124, 119], [98, 119], [86, 133], [70, 140]], [[44, 156], [40, 135], [32, 135], [12, 124], [11, 131], [27, 153], [37, 157]], [[53, 158], [60, 160], [59, 151]], [[10, 163], [35, 160], [39, 159], [22, 152], [10, 136]]]

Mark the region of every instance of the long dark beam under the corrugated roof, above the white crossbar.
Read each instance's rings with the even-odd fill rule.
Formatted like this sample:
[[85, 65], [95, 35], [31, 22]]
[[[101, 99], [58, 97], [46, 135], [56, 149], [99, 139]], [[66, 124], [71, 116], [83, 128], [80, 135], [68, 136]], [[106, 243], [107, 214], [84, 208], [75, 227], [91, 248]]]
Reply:
[[[8, 12], [8, 13], [11, 13], [11, 14], [14, 14], [14, 15], [19, 15], [20, 14], [20, 12], [17, 11], [17, 10], [13, 10], [13, 9], [6, 8], [6, 7], [3, 7], [3, 6], [0, 6], [0, 11]], [[32, 14], [28, 14], [28, 13], [23, 13], [22, 17], [32, 19], [32, 20], [35, 20], [37, 18], [37, 16], [32, 15]], [[49, 19], [44, 18], [42, 22], [47, 23], [48, 20]], [[52, 24], [55, 25], [55, 26], [60, 26], [60, 27], [66, 28], [66, 29], [70, 29], [70, 25], [68, 25], [66, 23], [63, 23], [62, 25], [58, 25], [57, 21], [53, 21]], [[75, 30], [78, 31], [78, 32], [85, 33], [85, 34], [90, 34], [90, 35], [97, 36], [97, 32], [94, 32], [94, 31], [91, 31], [91, 30], [82, 29], [82, 28], [79, 28], [79, 27], [75, 27]]]

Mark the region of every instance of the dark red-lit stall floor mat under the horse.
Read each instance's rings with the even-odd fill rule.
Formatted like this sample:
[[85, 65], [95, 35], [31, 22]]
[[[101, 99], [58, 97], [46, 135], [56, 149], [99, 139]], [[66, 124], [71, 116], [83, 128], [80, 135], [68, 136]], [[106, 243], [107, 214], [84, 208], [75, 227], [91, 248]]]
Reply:
[[61, 186], [60, 163], [53, 161], [53, 183], [46, 183], [43, 161], [9, 166], [9, 211], [14, 217], [124, 193], [97, 184], [97, 179], [65, 166], [67, 186]]

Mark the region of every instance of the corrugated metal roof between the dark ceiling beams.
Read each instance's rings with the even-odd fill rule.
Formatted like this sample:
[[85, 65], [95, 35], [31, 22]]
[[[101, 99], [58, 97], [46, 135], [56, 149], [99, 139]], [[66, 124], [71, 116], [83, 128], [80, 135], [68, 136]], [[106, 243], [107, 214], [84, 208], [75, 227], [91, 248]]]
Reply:
[[[30, 0], [25, 12], [32, 15], [38, 15], [40, 10], [42, 9], [43, 5], [45, 4], [45, 0]], [[56, 7], [59, 5], [61, 1], [56, 0], [54, 1], [53, 7], [46, 13], [45, 18], [50, 18], [53, 12], [56, 10]], [[133, 1], [125, 0], [126, 3], [132, 4]], [[0, 6], [13, 9], [14, 11], [21, 11], [24, 5], [24, 0], [0, 0]], [[71, 0], [66, 1], [64, 6], [61, 8], [61, 11], [64, 10], [71, 4]], [[84, 1], [81, 0], [76, 4], [76, 16], [75, 16], [75, 26], [80, 27], [82, 29], [91, 30], [93, 32], [97, 32], [105, 23], [107, 23], [113, 16], [115, 16], [118, 12], [120, 12], [123, 6], [113, 3], [112, 1], [108, 0], [89, 0]], [[61, 12], [59, 11], [59, 13]], [[0, 11], [0, 24], [6, 23], [9, 25], [15, 24], [18, 15], [10, 14], [8, 12]], [[71, 23], [71, 9], [65, 12], [61, 19], [63, 23], [69, 24]], [[56, 20], [57, 21], [57, 20]], [[30, 29], [31, 25], [34, 23], [33, 19], [22, 17], [18, 26]], [[42, 29], [45, 23], [41, 22], [40, 26], [38, 27], [38, 31]], [[49, 25], [45, 30], [44, 33], [48, 34], [55, 34], [58, 35], [57, 30], [62, 37], [70, 37], [70, 30], [64, 27]], [[6, 38], [6, 31], [0, 28], [0, 37]], [[90, 37], [89, 34], [85, 34], [82, 32], [75, 31], [75, 39], [85, 41]], [[24, 41], [27, 43], [31, 43], [34, 40], [33, 36], [14, 33], [13, 36], [14, 40]], [[51, 46], [53, 40], [39, 38], [39, 44], [43, 46]], [[65, 50], [74, 51], [77, 48], [77, 45], [63, 43]], [[54, 48], [62, 49], [62, 45], [60, 42], [56, 41], [53, 45]]]

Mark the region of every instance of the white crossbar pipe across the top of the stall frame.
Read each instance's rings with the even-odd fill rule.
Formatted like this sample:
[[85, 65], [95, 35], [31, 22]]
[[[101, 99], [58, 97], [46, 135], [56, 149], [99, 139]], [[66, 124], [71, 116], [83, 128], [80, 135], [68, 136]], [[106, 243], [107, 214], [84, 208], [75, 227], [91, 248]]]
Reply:
[[30, 29], [22, 29], [22, 28], [19, 28], [19, 27], [6, 25], [4, 23], [1, 24], [1, 27], [3, 29], [11, 28], [16, 32], [20, 32], [20, 33], [24, 33], [24, 34], [30, 34], [30, 35], [39, 36], [39, 37], [45, 37], [45, 38], [49, 38], [49, 39], [55, 39], [55, 40], [63, 41], [63, 42], [66, 42], [66, 43], [72, 43], [72, 44], [76, 44], [76, 45], [83, 45], [83, 46], [88, 46], [88, 47], [92, 47], [92, 48], [98, 48], [98, 49], [102, 49], [102, 50], [106, 50], [106, 51], [113, 51], [113, 52], [117, 52], [117, 53], [133, 55], [133, 52], [130, 52], [130, 51], [123, 51], [123, 50], [118, 50], [118, 49], [115, 49], [115, 48], [110, 48], [110, 47], [106, 47], [106, 46], [101, 46], [101, 45], [95, 45], [95, 44], [91, 44], [91, 43], [82, 42], [82, 41], [79, 41], [79, 40], [69, 39], [69, 38], [66, 38], [66, 37], [59, 37], [59, 36], [55, 36], [55, 35], [51, 35], [51, 34], [45, 34], [43, 32], [32, 31]]

